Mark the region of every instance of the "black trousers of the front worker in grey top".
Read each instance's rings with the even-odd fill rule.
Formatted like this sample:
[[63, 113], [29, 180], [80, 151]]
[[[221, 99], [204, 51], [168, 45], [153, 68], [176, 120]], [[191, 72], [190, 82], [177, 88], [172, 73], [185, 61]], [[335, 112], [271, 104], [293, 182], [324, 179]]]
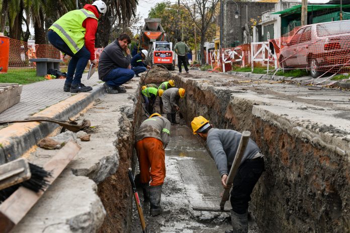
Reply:
[[233, 179], [230, 198], [233, 211], [243, 214], [248, 210], [250, 194], [264, 171], [264, 158], [246, 160], [239, 166], [237, 174]]

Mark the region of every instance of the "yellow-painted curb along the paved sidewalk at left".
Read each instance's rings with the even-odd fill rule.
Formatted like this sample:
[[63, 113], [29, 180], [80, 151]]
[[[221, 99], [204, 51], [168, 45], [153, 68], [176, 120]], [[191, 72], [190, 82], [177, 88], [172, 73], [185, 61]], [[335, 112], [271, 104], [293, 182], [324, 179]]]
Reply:
[[[49, 117], [68, 120], [89, 106], [98, 96], [105, 92], [98, 84], [91, 92], [83, 92], [60, 101], [36, 113], [33, 117]], [[49, 122], [15, 123], [0, 130], [0, 164], [19, 158], [41, 139], [47, 137], [58, 127]]]

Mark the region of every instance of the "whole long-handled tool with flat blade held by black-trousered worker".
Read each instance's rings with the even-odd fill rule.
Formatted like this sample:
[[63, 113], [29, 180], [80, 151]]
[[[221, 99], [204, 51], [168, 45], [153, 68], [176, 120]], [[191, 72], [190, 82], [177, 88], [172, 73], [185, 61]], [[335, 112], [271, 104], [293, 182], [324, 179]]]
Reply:
[[[226, 185], [227, 186], [232, 186], [232, 182], [234, 177], [236, 176], [236, 173], [238, 171], [240, 162], [242, 161], [242, 157], [245, 151], [245, 148], [248, 145], [250, 137], [250, 132], [249, 131], [243, 131], [242, 137], [239, 141], [238, 149], [236, 152], [236, 155], [233, 160], [233, 164], [230, 170], [230, 173], [228, 174], [228, 178], [226, 180]], [[230, 197], [230, 189], [224, 189], [222, 196], [221, 196], [221, 202], [220, 202], [220, 209], [219, 208], [210, 208], [210, 207], [200, 207], [200, 206], [193, 206], [193, 210], [198, 210], [198, 211], [210, 211], [210, 212], [230, 212], [228, 209], [224, 209], [226, 201], [228, 201]]]

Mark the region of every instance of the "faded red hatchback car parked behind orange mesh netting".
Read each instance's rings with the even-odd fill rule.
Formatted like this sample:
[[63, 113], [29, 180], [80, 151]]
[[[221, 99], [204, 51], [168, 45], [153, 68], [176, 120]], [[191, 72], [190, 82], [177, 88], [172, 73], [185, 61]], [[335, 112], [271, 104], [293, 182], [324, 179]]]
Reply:
[[350, 70], [350, 20], [300, 27], [282, 46], [282, 69], [305, 68], [314, 78], [327, 71]]

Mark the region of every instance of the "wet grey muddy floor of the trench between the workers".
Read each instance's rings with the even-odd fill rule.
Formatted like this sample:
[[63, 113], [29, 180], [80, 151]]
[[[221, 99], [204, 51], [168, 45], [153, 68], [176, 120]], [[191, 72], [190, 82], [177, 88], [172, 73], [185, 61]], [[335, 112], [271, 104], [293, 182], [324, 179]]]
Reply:
[[[150, 216], [149, 203], [143, 203], [142, 189], [138, 188], [148, 232], [224, 232], [232, 229], [229, 213], [192, 209], [193, 206], [219, 207], [222, 191], [220, 174], [203, 142], [181, 121], [180, 125], [171, 126], [170, 135], [165, 149], [166, 177], [160, 203], [171, 213]], [[225, 209], [230, 208], [228, 201]], [[142, 232], [134, 201], [132, 232]], [[259, 232], [253, 220], [249, 221], [248, 232]]]

